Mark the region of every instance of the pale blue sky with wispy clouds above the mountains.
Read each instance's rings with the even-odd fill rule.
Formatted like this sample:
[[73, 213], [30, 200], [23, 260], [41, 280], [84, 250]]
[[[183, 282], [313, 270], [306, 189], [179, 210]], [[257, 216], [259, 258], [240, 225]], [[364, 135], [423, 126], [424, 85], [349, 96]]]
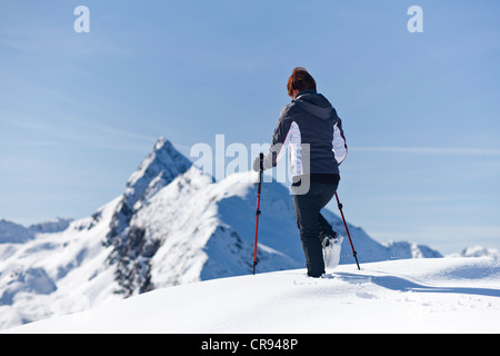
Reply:
[[[90, 10], [77, 33], [73, 10]], [[423, 10], [410, 33], [408, 8]], [[81, 218], [156, 139], [264, 144], [297, 66], [343, 120], [339, 196], [376, 239], [500, 248], [500, 3], [0, 1], [0, 218]], [[337, 211], [334, 205], [330, 206]]]

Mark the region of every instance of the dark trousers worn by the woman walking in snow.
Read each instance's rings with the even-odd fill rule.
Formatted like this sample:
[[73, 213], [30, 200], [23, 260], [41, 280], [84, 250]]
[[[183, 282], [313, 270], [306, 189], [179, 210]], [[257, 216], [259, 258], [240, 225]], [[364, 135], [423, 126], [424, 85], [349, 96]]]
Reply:
[[321, 231], [331, 235], [333, 230], [320, 211], [331, 200], [337, 187], [338, 184], [311, 182], [307, 194], [293, 195], [293, 206], [306, 256], [306, 266], [308, 275], [312, 277], [320, 277], [324, 273], [323, 253], [319, 236]]

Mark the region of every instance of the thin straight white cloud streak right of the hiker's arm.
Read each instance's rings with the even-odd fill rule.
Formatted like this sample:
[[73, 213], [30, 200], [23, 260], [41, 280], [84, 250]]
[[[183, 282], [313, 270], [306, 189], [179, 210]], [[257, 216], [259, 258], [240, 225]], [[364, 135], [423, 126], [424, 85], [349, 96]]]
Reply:
[[490, 148], [434, 148], [434, 147], [379, 147], [354, 146], [352, 151], [362, 152], [393, 152], [393, 154], [420, 154], [420, 155], [469, 155], [469, 156], [500, 156], [500, 149]]

